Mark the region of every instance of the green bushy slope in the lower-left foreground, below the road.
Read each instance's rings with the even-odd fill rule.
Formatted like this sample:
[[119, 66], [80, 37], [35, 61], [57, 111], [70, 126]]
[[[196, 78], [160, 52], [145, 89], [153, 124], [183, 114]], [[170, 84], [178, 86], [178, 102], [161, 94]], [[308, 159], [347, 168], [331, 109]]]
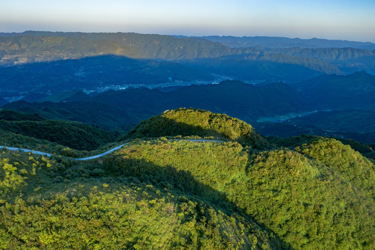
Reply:
[[0, 180], [0, 249], [286, 246], [232, 205], [135, 176], [116, 177], [100, 163], [3, 152]]

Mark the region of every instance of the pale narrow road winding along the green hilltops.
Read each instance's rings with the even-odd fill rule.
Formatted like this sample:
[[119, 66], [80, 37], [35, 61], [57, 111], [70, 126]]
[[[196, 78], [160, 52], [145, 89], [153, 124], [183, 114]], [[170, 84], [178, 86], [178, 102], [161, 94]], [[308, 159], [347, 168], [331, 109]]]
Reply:
[[[224, 141], [221, 141], [221, 140], [206, 140], [206, 139], [171, 139], [171, 140], [168, 140], [168, 141], [181, 141], [181, 140], [186, 140], [186, 141], [189, 141], [189, 142], [224, 142]], [[104, 153], [100, 153], [96, 156], [89, 156], [89, 157], [85, 157], [85, 158], [72, 158], [72, 159], [73, 160], [92, 160], [92, 159], [96, 159], [96, 158], [101, 158], [102, 156], [105, 156], [108, 153], [112, 153], [113, 151], [121, 149], [121, 147], [123, 147], [125, 145], [128, 145], [128, 142], [124, 143], [124, 144], [121, 144], [117, 147], [114, 147], [113, 149], [110, 149], [110, 150], [108, 150]], [[21, 148], [17, 148], [17, 147], [0, 146], [0, 149], [5, 149], [5, 148], [9, 149], [9, 150], [12, 150], [12, 151], [22, 151], [22, 152], [26, 152], [26, 153], [35, 153], [35, 154], [40, 155], [40, 156], [48, 156], [48, 157], [52, 156], [51, 153], [44, 153], [44, 152], [32, 150], [32, 149], [21, 149]]]

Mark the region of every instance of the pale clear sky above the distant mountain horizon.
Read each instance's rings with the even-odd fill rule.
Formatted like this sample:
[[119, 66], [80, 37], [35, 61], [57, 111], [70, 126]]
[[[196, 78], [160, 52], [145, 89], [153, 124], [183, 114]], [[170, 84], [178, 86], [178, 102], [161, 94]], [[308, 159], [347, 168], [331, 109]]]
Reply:
[[0, 0], [0, 32], [136, 32], [375, 42], [375, 0]]

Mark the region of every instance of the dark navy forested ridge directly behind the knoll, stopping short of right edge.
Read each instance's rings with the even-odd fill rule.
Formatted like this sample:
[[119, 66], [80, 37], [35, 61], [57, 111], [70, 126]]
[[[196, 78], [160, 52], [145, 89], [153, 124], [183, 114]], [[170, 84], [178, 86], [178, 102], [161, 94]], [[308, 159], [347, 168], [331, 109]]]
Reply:
[[[245, 122], [254, 121], [261, 116], [309, 111], [306, 99], [286, 83], [251, 85], [241, 81], [190, 85], [171, 92], [128, 88], [85, 97], [82, 101], [80, 99], [64, 99], [59, 103], [15, 101], [3, 107], [24, 113], [37, 113], [49, 119], [56, 119], [54, 117], [76, 119], [79, 122], [94, 123], [111, 129], [124, 127], [126, 123], [136, 125], [141, 120], [162, 113], [164, 110], [180, 107], [226, 113]], [[105, 110], [113, 115], [107, 117]], [[103, 114], [99, 114], [98, 111]], [[119, 115], [116, 115], [116, 112]], [[100, 115], [106, 118], [101, 119]], [[119, 120], [116, 121], [112, 116], [119, 117]], [[93, 117], [96, 117], [96, 122]], [[112, 122], [106, 122], [106, 119]]]

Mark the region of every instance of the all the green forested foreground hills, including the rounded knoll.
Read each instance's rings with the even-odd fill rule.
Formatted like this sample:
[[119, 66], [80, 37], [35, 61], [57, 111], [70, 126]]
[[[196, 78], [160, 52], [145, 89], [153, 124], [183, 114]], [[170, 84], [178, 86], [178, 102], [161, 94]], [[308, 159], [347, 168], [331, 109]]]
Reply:
[[375, 247], [371, 145], [264, 138], [193, 109], [166, 111], [125, 138], [133, 139], [87, 162], [1, 150], [0, 249]]

